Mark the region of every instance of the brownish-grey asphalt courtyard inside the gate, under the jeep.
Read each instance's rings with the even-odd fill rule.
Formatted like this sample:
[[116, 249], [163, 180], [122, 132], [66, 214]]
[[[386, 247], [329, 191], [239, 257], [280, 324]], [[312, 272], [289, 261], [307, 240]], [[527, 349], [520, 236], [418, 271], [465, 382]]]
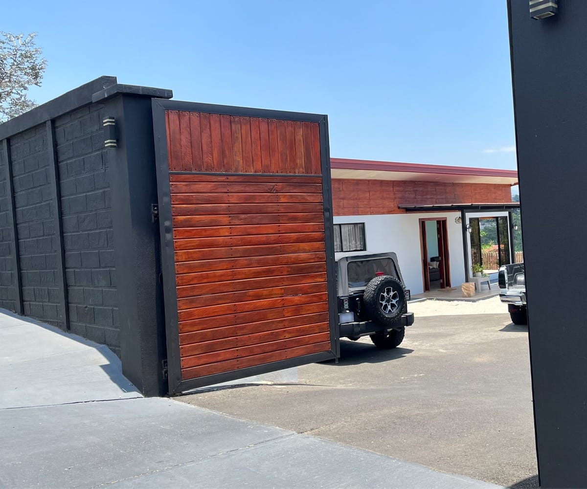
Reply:
[[341, 350], [338, 364], [299, 367], [298, 382], [177, 399], [448, 473], [538, 487], [527, 326], [507, 313], [417, 316], [400, 348], [378, 350], [363, 338], [343, 340]]

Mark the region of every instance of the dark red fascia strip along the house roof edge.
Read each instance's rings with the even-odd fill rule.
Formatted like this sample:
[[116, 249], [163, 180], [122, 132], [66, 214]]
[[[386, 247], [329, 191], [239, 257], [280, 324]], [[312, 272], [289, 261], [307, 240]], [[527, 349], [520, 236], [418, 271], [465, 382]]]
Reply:
[[406, 171], [410, 173], [436, 173], [439, 175], [518, 178], [518, 172], [515, 170], [397, 163], [396, 161], [349, 160], [347, 158], [330, 158], [330, 168], [337, 168], [339, 170]]

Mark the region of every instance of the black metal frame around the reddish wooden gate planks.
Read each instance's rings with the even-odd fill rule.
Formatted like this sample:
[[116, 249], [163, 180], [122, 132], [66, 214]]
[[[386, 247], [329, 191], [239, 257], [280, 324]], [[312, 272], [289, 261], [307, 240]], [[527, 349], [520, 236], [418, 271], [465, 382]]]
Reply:
[[[155, 140], [155, 161], [157, 167], [158, 218], [161, 237], [161, 269], [163, 272], [163, 296], [165, 308], [165, 325], [167, 339], [167, 369], [169, 394], [178, 394], [186, 390], [209, 386], [229, 380], [241, 379], [261, 373], [274, 372], [305, 365], [307, 363], [322, 362], [340, 356], [340, 340], [338, 334], [338, 311], [336, 306], [336, 263], [333, 240], [332, 217], [332, 183], [330, 180], [330, 147], [328, 140], [328, 116], [299, 112], [282, 112], [278, 110], [250, 109], [247, 107], [232, 107], [195, 102], [181, 102], [178, 100], [152, 99], [153, 133]], [[217, 373], [198, 377], [196, 379], [181, 379], [180, 339], [177, 309], [177, 288], [175, 272], [175, 255], [173, 244], [173, 221], [171, 217], [171, 189], [169, 176], [172, 173], [204, 174], [204, 175], [254, 175], [284, 176], [275, 173], [208, 173], [199, 171], [173, 172], [169, 170], [166, 110], [185, 112], [203, 112], [242, 117], [263, 117], [266, 119], [292, 120], [295, 122], [313, 122], [319, 124], [320, 158], [322, 166], [322, 193], [324, 207], [324, 231], [326, 244], [326, 279], [328, 290], [330, 350], [301, 357], [265, 363], [263, 365], [245, 367], [229, 372]], [[296, 175], [297, 177], [316, 177], [316, 175]]]

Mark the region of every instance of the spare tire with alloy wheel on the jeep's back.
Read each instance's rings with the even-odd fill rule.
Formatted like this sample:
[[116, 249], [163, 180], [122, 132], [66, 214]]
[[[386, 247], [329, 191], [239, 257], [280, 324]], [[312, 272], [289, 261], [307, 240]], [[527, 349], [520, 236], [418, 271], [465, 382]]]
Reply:
[[406, 308], [406, 293], [397, 278], [376, 276], [365, 288], [363, 304], [371, 321], [391, 325]]

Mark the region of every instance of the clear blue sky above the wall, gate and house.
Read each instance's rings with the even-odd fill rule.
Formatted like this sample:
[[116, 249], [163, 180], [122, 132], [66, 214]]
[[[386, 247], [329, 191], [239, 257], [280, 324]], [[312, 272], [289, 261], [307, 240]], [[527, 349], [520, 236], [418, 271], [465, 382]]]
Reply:
[[505, 0], [33, 0], [6, 2], [0, 29], [38, 32], [39, 103], [114, 75], [328, 114], [332, 157], [516, 167]]

